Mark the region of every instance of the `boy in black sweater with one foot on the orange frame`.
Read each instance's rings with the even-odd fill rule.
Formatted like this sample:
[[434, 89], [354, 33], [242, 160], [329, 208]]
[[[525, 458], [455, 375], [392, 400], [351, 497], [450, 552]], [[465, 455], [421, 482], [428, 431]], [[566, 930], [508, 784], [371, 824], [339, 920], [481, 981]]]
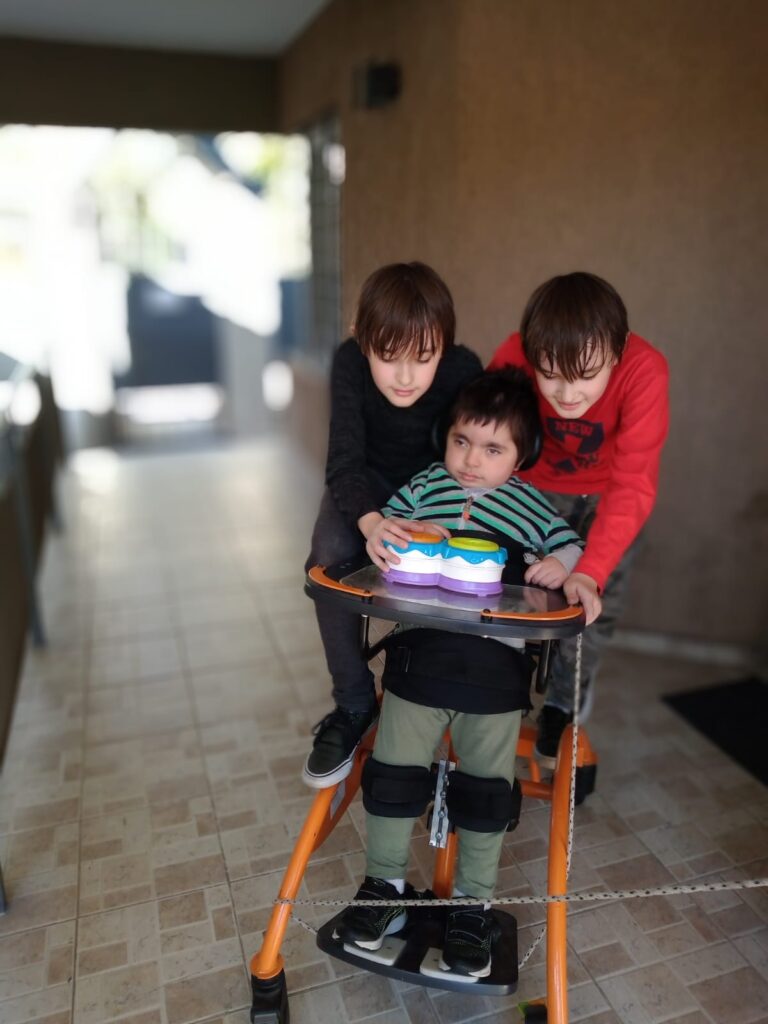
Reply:
[[[423, 523], [397, 518], [382, 526], [379, 509], [433, 461], [435, 420], [482, 372], [473, 352], [454, 344], [455, 332], [451, 293], [423, 263], [382, 267], [362, 286], [354, 337], [337, 350], [331, 371], [327, 489], [307, 569], [360, 554], [377, 527], [380, 543], [399, 546], [423, 529]], [[358, 615], [322, 601], [314, 607], [336, 708], [314, 728], [303, 779], [324, 788], [349, 774], [377, 703], [374, 676], [360, 653]]]

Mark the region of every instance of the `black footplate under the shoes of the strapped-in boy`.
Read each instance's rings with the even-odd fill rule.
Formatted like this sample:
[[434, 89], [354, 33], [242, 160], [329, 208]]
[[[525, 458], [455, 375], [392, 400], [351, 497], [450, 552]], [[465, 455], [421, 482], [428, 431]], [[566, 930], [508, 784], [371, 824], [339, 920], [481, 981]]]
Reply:
[[[337, 913], [317, 932], [317, 946], [329, 956], [412, 985], [472, 991], [478, 995], [509, 995], [517, 988], [517, 922], [511, 913], [494, 911], [500, 934], [490, 951], [490, 974], [487, 978], [472, 978], [430, 968], [434, 950], [442, 948], [446, 907], [409, 908], [408, 924], [402, 931], [385, 940], [379, 957], [369, 949], [355, 949], [336, 937], [343, 912]], [[429, 974], [422, 973], [422, 963]]]

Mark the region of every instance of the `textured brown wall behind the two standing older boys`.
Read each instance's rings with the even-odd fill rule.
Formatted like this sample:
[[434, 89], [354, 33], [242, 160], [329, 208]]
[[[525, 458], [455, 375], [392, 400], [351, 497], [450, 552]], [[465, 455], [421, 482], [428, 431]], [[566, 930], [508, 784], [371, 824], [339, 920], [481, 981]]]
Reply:
[[[281, 70], [283, 125], [342, 117], [344, 305], [420, 258], [484, 357], [553, 273], [623, 294], [667, 354], [672, 432], [626, 625], [764, 644], [768, 7], [762, 0], [335, 0]], [[392, 108], [352, 70], [394, 59]], [[325, 383], [302, 380], [325, 414]]]

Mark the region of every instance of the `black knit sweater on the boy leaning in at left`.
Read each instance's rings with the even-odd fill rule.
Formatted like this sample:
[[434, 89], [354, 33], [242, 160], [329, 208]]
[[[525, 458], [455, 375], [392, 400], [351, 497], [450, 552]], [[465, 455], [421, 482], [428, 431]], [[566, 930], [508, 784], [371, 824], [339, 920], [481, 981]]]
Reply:
[[339, 511], [356, 522], [379, 509], [367, 470], [392, 492], [434, 461], [432, 425], [461, 387], [482, 373], [474, 352], [455, 345], [437, 365], [432, 386], [407, 409], [392, 406], [374, 383], [353, 338], [337, 349], [331, 370], [331, 432], [326, 483]]

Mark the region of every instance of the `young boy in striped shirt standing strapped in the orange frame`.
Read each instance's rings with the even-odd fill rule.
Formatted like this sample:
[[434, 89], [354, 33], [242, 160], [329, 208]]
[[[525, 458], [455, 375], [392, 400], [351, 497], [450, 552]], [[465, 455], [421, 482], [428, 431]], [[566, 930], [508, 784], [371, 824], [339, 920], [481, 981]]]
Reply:
[[[535, 487], [514, 475], [535, 450], [539, 430], [536, 393], [523, 371], [485, 374], [466, 385], [451, 413], [444, 462], [400, 487], [382, 509], [383, 523], [399, 516], [511, 539], [541, 559], [542, 586], [562, 586], [582, 542]], [[385, 537], [382, 524], [367, 550], [386, 572], [399, 559], [383, 546]], [[586, 610], [591, 618], [599, 614], [597, 595]], [[379, 729], [362, 774], [368, 856], [355, 898], [391, 902], [413, 895], [404, 879], [411, 833], [430, 799], [434, 750], [450, 727], [460, 762], [449, 776], [447, 796], [459, 833], [455, 894], [477, 905], [449, 913], [440, 966], [486, 977], [495, 934], [487, 901], [515, 816], [515, 751], [522, 710], [530, 707], [528, 660], [524, 650], [486, 637], [407, 629], [388, 644], [382, 683]], [[350, 906], [339, 935], [378, 949], [406, 920], [401, 906]]]

